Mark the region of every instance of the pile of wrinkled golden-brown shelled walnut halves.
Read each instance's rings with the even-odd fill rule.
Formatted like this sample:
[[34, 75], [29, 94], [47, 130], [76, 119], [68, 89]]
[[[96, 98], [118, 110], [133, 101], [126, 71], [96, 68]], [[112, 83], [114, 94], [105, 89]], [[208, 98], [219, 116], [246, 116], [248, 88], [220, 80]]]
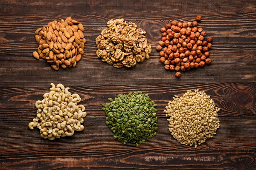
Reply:
[[149, 59], [151, 45], [144, 35], [146, 31], [136, 29], [135, 23], [126, 23], [124, 19], [109, 20], [107, 26], [96, 38], [96, 54], [103, 62], [121, 68], [134, 67]]

